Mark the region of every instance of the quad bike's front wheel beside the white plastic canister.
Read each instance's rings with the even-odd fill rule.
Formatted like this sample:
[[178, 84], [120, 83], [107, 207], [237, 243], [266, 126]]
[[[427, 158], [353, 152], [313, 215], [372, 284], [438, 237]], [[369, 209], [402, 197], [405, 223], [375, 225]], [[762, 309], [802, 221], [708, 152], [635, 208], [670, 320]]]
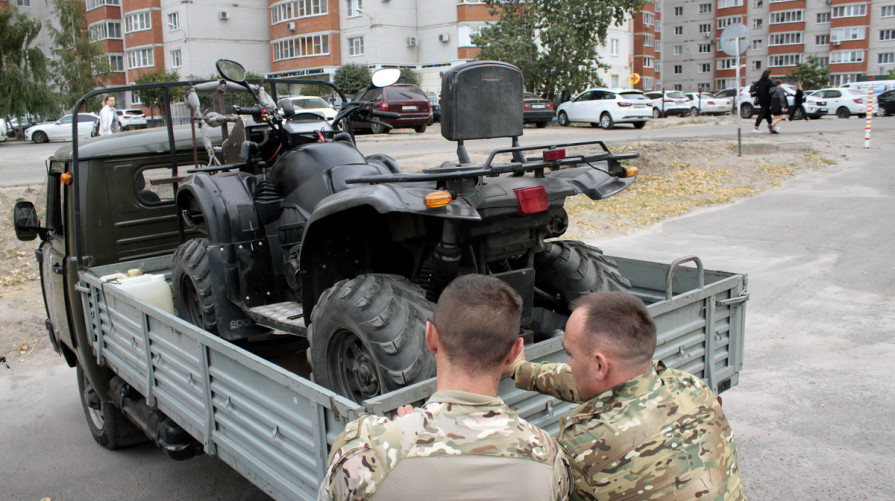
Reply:
[[174, 307], [181, 318], [208, 332], [217, 332], [208, 239], [194, 238], [174, 252], [171, 265]]

